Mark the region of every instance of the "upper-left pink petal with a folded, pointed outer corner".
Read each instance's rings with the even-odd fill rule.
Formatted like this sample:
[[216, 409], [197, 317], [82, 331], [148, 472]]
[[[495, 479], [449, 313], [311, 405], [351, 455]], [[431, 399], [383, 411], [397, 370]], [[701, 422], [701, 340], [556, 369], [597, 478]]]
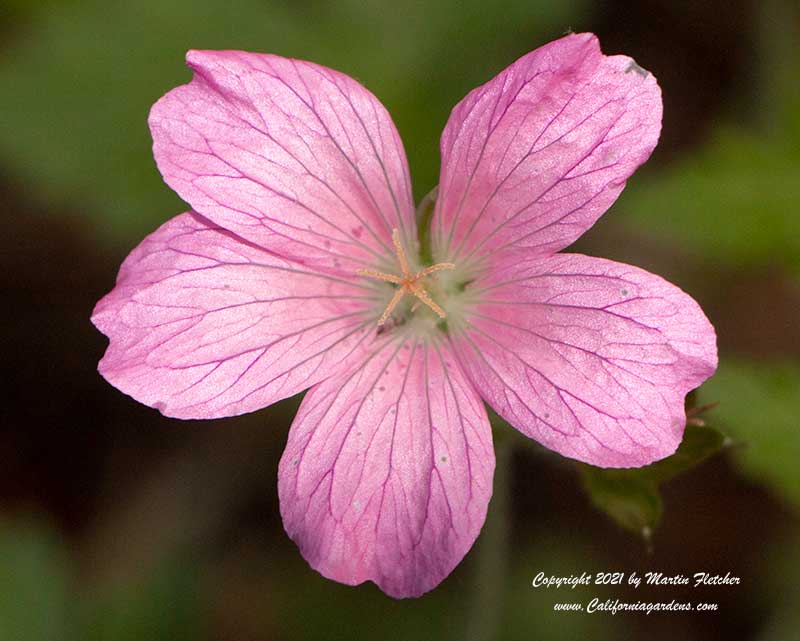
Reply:
[[416, 238], [408, 165], [377, 98], [300, 60], [190, 51], [191, 83], [150, 112], [164, 180], [216, 224], [281, 256], [352, 272]]

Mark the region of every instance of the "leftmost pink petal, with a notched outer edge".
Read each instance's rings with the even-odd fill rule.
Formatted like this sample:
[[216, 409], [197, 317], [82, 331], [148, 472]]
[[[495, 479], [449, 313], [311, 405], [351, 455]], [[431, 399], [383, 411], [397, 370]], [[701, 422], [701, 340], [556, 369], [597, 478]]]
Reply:
[[304, 271], [194, 213], [131, 252], [92, 322], [100, 373], [178, 418], [232, 416], [323, 380], [374, 334], [368, 291]]

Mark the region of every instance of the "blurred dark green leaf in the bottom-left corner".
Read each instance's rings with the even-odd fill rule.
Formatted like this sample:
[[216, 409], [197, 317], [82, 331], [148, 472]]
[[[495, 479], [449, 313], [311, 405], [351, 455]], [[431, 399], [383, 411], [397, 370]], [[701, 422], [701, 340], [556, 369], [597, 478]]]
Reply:
[[0, 639], [73, 638], [67, 552], [34, 521], [0, 522]]

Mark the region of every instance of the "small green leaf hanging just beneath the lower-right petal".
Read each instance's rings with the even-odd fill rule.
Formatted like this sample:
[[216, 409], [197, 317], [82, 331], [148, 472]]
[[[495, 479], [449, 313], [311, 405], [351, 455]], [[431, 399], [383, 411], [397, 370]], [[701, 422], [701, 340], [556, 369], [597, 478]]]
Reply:
[[661, 520], [661, 483], [716, 454], [728, 440], [712, 427], [687, 425], [678, 450], [651, 465], [605, 469], [581, 464], [583, 484], [592, 504], [626, 530], [649, 539]]

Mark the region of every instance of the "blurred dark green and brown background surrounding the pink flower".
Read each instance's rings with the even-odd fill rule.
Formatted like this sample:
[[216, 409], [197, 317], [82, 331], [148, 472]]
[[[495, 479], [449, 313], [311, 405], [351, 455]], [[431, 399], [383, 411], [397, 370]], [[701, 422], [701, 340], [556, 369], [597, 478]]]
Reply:
[[[652, 159], [577, 249], [701, 302], [721, 360], [696, 402], [719, 402], [702, 420], [726, 447], [640, 500], [630, 479], [593, 486], [508, 434], [486, 529], [439, 588], [397, 602], [326, 581], [278, 512], [298, 399], [184, 423], [95, 371], [95, 301], [143, 235], [185, 209], [152, 160], [149, 107], [188, 81], [189, 48], [319, 62], [387, 106], [419, 198], [452, 106], [570, 29], [634, 56], [665, 104]], [[789, 0], [4, 0], [0, 641], [800, 638], [799, 32]], [[642, 525], [653, 505], [649, 542], [614, 520]], [[530, 587], [540, 570], [650, 569], [742, 585]], [[553, 612], [595, 594], [720, 609]]]

